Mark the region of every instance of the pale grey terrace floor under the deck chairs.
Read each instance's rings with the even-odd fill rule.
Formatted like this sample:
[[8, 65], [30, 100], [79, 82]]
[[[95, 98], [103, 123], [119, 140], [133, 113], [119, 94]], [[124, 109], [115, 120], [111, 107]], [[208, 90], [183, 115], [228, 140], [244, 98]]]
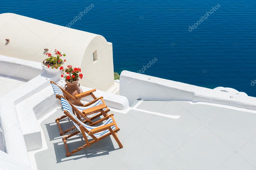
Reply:
[[[117, 134], [122, 149], [108, 137], [69, 157], [65, 156], [55, 123], [55, 118], [63, 112], [56, 111], [41, 123], [47, 146], [35, 153], [35, 157], [30, 153], [31, 163], [36, 160], [38, 170], [255, 169], [253, 112], [177, 101], [139, 101], [135, 107], [125, 114], [110, 112], [120, 128]], [[174, 119], [143, 110], [180, 117]], [[63, 122], [62, 126], [72, 123]], [[196, 136], [189, 136], [193, 132]], [[84, 143], [81, 136], [75, 136], [68, 143], [69, 150]]]

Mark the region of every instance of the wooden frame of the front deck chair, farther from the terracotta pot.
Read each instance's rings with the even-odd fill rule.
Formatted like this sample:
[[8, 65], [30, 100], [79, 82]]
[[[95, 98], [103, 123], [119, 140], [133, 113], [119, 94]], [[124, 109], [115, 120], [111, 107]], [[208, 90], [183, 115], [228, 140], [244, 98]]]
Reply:
[[[68, 101], [68, 102], [69, 102], [69, 101]], [[69, 103], [70, 103], [70, 102], [69, 102]], [[70, 104], [71, 104], [71, 103], [70, 103]], [[73, 106], [72, 104], [71, 104], [71, 106], [72, 106], [72, 109], [74, 109], [74, 106]], [[73, 111], [73, 113], [76, 113], [76, 112]], [[81, 113], [81, 112], [80, 112], [80, 113]], [[82, 145], [81, 147], [79, 147], [79, 148], [77, 148], [77, 149], [75, 149], [75, 150], [69, 152], [69, 150], [68, 150], [68, 145], [67, 145], [67, 139], [70, 138], [70, 137], [72, 137], [72, 136], [74, 136], [74, 135], [77, 135], [78, 133], [80, 133], [80, 131], [76, 131], [76, 132], [74, 132], [74, 133], [72, 133], [72, 134], [70, 134], [70, 135], [68, 135], [68, 136], [63, 137], [62, 140], [63, 140], [63, 143], [64, 143], [64, 145], [65, 145], [66, 156], [70, 156], [70, 155], [72, 155], [72, 154], [74, 154], [74, 153], [76, 153], [76, 152], [78, 152], [78, 151], [80, 151], [80, 150], [82, 150], [82, 149], [84, 149], [84, 148], [90, 147], [91, 144], [96, 143], [96, 142], [99, 142], [100, 140], [102, 140], [102, 139], [104, 139], [104, 138], [106, 138], [106, 137], [108, 137], [108, 136], [110, 136], [110, 135], [112, 135], [112, 136], [114, 137], [114, 139], [115, 139], [116, 142], [118, 143], [119, 147], [120, 147], [120, 148], [123, 148], [122, 143], [120, 142], [120, 140], [118, 139], [118, 136], [116, 135], [116, 133], [117, 133], [120, 129], [119, 129], [118, 126], [116, 125], [116, 122], [115, 122], [115, 119], [114, 119], [114, 117], [113, 117], [113, 114], [107, 115], [106, 117], [104, 117], [104, 118], [102, 118], [102, 119], [100, 119], [100, 120], [98, 120], [98, 121], [96, 121], [96, 122], [90, 124], [90, 126], [97, 125], [98, 123], [103, 122], [104, 120], [107, 120], [107, 119], [110, 118], [110, 117], [112, 118], [113, 123], [110, 123], [110, 124], [108, 124], [108, 125], [103, 125], [103, 126], [101, 126], [101, 127], [92, 129], [91, 131], [89, 131], [88, 129], [86, 129], [85, 127], [83, 127], [73, 116], [70, 115], [70, 113], [69, 113], [68, 111], [65, 110], [65, 111], [64, 111], [64, 114], [65, 114], [67, 117], [69, 117], [74, 123], [76, 123], [76, 124], [79, 126], [80, 131], [81, 131], [82, 136], [83, 136], [84, 141], [85, 141], [85, 144], [84, 144], [84, 145]], [[112, 129], [111, 129], [111, 126], [115, 126], [116, 129], [115, 129], [115, 130], [112, 130]], [[93, 135], [93, 134], [95, 134], [95, 133], [98, 133], [98, 132], [101, 132], [101, 131], [104, 131], [104, 130], [107, 130], [107, 129], [109, 129], [110, 132], [106, 133], [105, 135], [101, 136], [100, 138], [97, 138], [97, 137], [95, 137], [95, 136]], [[87, 138], [85, 132], [86, 132], [88, 135], [90, 135], [90, 136], [93, 138], [93, 140], [91, 140], [91, 141], [89, 142], [89, 140], [88, 140], [88, 138]]]

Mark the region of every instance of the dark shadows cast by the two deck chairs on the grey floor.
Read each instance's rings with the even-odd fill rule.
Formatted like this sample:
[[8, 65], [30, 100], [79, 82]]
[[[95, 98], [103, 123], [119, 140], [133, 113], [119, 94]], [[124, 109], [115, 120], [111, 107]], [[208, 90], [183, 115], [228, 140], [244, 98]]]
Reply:
[[[96, 118], [94, 121], [97, 121], [98, 119], [100, 119], [100, 118]], [[100, 124], [98, 124], [97, 126], [99, 126]], [[60, 125], [61, 125], [62, 130], [64, 130], [64, 129], [66, 130], [66, 129], [72, 127], [73, 123], [68, 118], [65, 118], [60, 121]], [[51, 142], [54, 142], [52, 144], [54, 145], [54, 151], [55, 151], [57, 163], [65, 162], [65, 161], [69, 161], [69, 160], [77, 160], [77, 159], [81, 159], [81, 158], [91, 158], [91, 157], [96, 157], [96, 156], [109, 155], [109, 152], [120, 149], [120, 148], [117, 148], [117, 149], [114, 148], [113, 142], [115, 142], [115, 140], [112, 141], [111, 137], [108, 136], [108, 137], [100, 140], [99, 142], [92, 144], [91, 147], [89, 147], [89, 148], [87, 147], [87, 148], [67, 157], [65, 146], [62, 141], [62, 137], [64, 137], [65, 135], [60, 136], [59, 128], [58, 128], [56, 122], [45, 124], [45, 126], [46, 126], [46, 130], [47, 130], [47, 133], [49, 136], [49, 140]], [[77, 131], [77, 129], [75, 129], [74, 131]], [[89, 141], [91, 141], [91, 140], [93, 140], [93, 139], [89, 139]], [[84, 141], [82, 134], [79, 133], [78, 135], [75, 135], [75, 136], [71, 137], [70, 139], [68, 139], [67, 144], [68, 144], [69, 152], [71, 152], [72, 150], [77, 149], [77, 148], [81, 147], [82, 145], [86, 144], [86, 142]]]

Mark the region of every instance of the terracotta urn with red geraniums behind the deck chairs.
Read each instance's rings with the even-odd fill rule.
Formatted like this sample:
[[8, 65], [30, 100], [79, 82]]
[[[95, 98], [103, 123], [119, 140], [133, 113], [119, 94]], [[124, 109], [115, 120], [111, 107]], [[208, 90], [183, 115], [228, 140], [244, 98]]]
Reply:
[[[82, 89], [80, 88], [80, 83], [78, 83], [79, 78], [82, 79], [83, 75], [80, 73], [80, 68], [73, 68], [71, 65], [68, 65], [67, 68], [60, 67], [60, 70], [62, 72], [61, 77], [65, 78], [65, 81], [67, 84], [65, 84], [65, 90], [75, 97], [75, 95], [82, 93]], [[65, 96], [67, 98], [67, 96]], [[72, 99], [68, 99], [72, 104], [75, 101], [72, 101]], [[79, 100], [80, 101], [80, 100]]]

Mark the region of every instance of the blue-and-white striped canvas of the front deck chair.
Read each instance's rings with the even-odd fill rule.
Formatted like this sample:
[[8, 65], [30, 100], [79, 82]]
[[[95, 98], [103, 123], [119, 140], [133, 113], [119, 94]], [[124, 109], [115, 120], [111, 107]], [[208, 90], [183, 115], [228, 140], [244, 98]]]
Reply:
[[[74, 115], [74, 113], [73, 113], [73, 111], [72, 111], [72, 107], [71, 107], [71, 105], [68, 103], [68, 101], [66, 100], [66, 99], [64, 99], [64, 98], [61, 98], [61, 103], [62, 103], [62, 106], [63, 106], [63, 110], [66, 110], [67, 112], [69, 112], [69, 114], [73, 117], [73, 118], [75, 118], [83, 127], [85, 127], [87, 130], [89, 130], [89, 131], [91, 131], [91, 129], [95, 129], [95, 128], [97, 128], [97, 127], [101, 127], [101, 126], [104, 126], [104, 125], [108, 125], [108, 124], [110, 124], [110, 123], [113, 123], [113, 120], [112, 120], [112, 118], [110, 117], [110, 118], [108, 118], [107, 120], [106, 120], [106, 122], [104, 122], [102, 125], [100, 125], [100, 126], [89, 126], [89, 125], [87, 125], [87, 124], [84, 124], [81, 120], [79, 120], [75, 115]], [[73, 121], [72, 121], [73, 122]], [[80, 131], [80, 128], [79, 128], [79, 126], [76, 124], [76, 123], [74, 123], [73, 122], [73, 124], [76, 126], [76, 128]], [[111, 127], [111, 129], [112, 130], [115, 130], [116, 129], [116, 127], [115, 126], [112, 126]], [[94, 134], [94, 136], [95, 137], [97, 137], [97, 138], [99, 138], [99, 137], [101, 137], [101, 136], [103, 136], [103, 135], [105, 135], [106, 133], [109, 133], [110, 131], [107, 129], [107, 130], [104, 130], [104, 131], [101, 131], [101, 132], [99, 132], [99, 133], [95, 133]], [[86, 136], [88, 137], [88, 138], [91, 138], [89, 135], [88, 135], [88, 133], [86, 133]]]

